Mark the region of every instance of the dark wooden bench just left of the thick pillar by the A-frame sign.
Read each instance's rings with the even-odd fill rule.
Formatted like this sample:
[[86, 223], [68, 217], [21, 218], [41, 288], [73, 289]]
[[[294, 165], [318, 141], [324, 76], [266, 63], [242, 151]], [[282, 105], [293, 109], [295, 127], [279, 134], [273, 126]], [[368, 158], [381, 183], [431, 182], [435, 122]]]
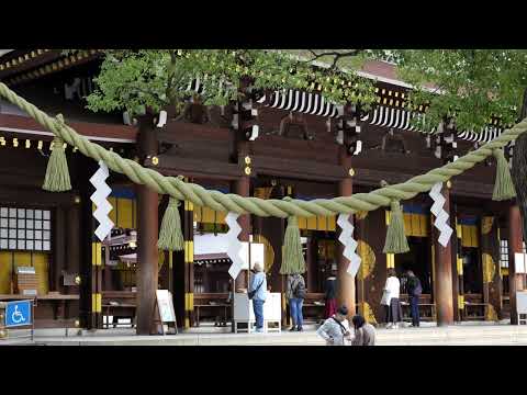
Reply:
[[132, 328], [135, 327], [135, 317], [137, 312], [136, 293], [130, 291], [103, 291], [102, 292], [102, 313], [106, 316], [105, 328], [110, 328], [110, 317], [112, 325], [116, 328], [119, 318], [130, 318]]

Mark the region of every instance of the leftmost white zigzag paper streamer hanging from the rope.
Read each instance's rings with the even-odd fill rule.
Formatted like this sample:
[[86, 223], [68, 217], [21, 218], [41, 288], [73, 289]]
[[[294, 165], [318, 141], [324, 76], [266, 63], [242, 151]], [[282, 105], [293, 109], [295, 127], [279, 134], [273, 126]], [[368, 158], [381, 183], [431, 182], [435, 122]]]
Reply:
[[96, 192], [90, 196], [90, 200], [97, 206], [93, 217], [99, 221], [99, 226], [96, 229], [96, 236], [103, 241], [113, 228], [113, 222], [108, 214], [112, 211], [112, 205], [108, 201], [108, 196], [112, 193], [105, 180], [110, 176], [106, 165], [100, 160], [99, 170], [90, 178], [90, 182], [96, 187]]

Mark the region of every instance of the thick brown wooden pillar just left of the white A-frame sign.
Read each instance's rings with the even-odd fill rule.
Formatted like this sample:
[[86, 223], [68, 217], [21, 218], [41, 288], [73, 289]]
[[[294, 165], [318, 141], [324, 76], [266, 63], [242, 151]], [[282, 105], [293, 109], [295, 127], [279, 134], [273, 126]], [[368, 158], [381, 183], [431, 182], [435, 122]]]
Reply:
[[[152, 116], [139, 120], [138, 148], [143, 158], [157, 155]], [[158, 194], [137, 187], [137, 335], [149, 335], [158, 282]]]

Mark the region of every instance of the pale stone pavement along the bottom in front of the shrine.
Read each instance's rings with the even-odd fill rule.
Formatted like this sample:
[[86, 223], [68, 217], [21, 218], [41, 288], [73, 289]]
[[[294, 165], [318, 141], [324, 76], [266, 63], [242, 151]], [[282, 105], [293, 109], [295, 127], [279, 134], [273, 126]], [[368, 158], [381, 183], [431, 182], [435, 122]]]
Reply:
[[[131, 329], [83, 331], [82, 336], [37, 331], [33, 342], [38, 346], [323, 346], [314, 328], [304, 332], [281, 334], [221, 334], [191, 330], [180, 335], [135, 336]], [[209, 329], [211, 330], [211, 329]], [[64, 329], [63, 329], [64, 331]], [[453, 325], [378, 329], [379, 346], [519, 346], [527, 345], [527, 326]], [[46, 336], [47, 335], [47, 336]], [[0, 341], [8, 345], [11, 341]]]

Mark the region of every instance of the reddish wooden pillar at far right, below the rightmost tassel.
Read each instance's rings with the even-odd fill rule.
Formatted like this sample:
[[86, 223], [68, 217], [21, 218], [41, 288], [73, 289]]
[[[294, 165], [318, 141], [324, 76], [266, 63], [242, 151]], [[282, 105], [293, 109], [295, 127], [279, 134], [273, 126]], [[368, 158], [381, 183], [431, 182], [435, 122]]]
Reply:
[[514, 255], [516, 252], [523, 252], [523, 239], [519, 207], [517, 204], [513, 204], [508, 208], [508, 296], [511, 300], [511, 325], [518, 325], [516, 292], [522, 290], [522, 278], [516, 274]]

